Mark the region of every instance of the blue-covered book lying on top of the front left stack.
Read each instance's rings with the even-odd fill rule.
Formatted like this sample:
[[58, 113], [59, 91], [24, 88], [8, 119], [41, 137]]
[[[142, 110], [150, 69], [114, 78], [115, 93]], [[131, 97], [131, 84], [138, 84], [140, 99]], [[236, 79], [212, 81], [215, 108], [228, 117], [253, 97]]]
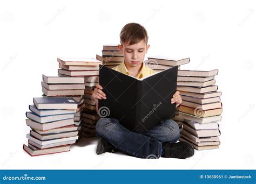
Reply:
[[77, 102], [71, 97], [37, 97], [33, 98], [37, 109], [77, 109]]

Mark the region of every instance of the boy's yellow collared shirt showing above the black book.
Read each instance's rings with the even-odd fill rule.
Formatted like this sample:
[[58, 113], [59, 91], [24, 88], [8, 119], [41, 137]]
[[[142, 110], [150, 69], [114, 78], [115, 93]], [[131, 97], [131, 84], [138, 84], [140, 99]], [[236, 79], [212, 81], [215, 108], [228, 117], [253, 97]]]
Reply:
[[[112, 68], [113, 70], [116, 70], [117, 72], [121, 72], [123, 74], [126, 75], [130, 75], [129, 71], [127, 70], [124, 61], [116, 66]], [[142, 77], [148, 76], [148, 75], [152, 75], [154, 73], [157, 73], [156, 71], [152, 70], [151, 68], [147, 67], [145, 65], [145, 63], [143, 62], [143, 66], [142, 69], [140, 70], [139, 74], [136, 76], [137, 79], [141, 79]]]

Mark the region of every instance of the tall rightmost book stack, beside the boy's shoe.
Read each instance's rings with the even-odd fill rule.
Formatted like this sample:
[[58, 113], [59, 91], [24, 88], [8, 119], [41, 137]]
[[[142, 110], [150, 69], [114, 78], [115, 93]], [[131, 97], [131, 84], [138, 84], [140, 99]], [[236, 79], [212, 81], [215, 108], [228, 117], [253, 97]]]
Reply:
[[178, 70], [177, 90], [183, 102], [174, 120], [183, 124], [180, 140], [191, 143], [197, 150], [219, 148], [220, 145], [218, 122], [223, 109], [221, 92], [217, 91], [214, 80], [217, 74], [218, 69]]

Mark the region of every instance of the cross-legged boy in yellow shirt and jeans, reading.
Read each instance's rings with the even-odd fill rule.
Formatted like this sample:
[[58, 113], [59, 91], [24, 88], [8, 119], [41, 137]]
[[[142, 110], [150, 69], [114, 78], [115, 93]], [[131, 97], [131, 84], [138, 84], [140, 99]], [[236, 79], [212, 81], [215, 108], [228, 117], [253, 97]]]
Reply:
[[[144, 56], [150, 45], [147, 45], [147, 31], [136, 23], [126, 24], [120, 32], [118, 48], [124, 55], [122, 64], [112, 68], [118, 72], [137, 77], [138, 79], [156, 73], [144, 64]], [[106, 99], [102, 86], [97, 84], [93, 98], [96, 101]], [[182, 102], [179, 91], [173, 95], [170, 103], [176, 107]], [[97, 154], [120, 150], [138, 158], [180, 158], [192, 157], [194, 148], [179, 139], [179, 126], [171, 119], [161, 121], [144, 133], [131, 132], [120, 125], [117, 119], [101, 118], [96, 124], [96, 135], [101, 138], [97, 146]]]

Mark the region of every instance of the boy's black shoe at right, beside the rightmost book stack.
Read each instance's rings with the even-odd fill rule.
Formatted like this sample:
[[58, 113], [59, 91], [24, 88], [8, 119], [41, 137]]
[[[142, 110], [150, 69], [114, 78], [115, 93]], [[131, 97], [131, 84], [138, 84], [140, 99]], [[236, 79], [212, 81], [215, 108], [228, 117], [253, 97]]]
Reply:
[[179, 141], [178, 143], [163, 143], [165, 158], [179, 158], [185, 159], [194, 155], [194, 148], [192, 145], [185, 141]]

